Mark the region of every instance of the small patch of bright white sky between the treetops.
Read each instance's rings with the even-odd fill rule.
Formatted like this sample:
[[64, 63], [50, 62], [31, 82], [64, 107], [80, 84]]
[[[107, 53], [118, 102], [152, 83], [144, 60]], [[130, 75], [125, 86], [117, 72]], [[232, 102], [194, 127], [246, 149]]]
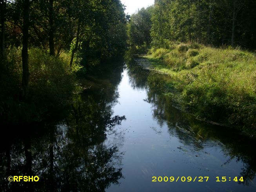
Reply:
[[154, 4], [154, 0], [121, 0], [126, 7], [125, 13], [133, 14], [142, 7], [148, 7]]

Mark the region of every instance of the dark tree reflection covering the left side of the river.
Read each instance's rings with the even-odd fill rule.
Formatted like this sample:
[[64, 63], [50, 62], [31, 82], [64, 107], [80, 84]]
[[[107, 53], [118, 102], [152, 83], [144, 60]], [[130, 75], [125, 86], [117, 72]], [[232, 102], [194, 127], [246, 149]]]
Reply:
[[[112, 67], [106, 64], [105, 71], [81, 80], [84, 89], [62, 111], [64, 118], [0, 134], [1, 191], [105, 191], [119, 183], [123, 152], [120, 143], [105, 141], [125, 120], [112, 111], [123, 62]], [[9, 182], [8, 176], [40, 180]]]

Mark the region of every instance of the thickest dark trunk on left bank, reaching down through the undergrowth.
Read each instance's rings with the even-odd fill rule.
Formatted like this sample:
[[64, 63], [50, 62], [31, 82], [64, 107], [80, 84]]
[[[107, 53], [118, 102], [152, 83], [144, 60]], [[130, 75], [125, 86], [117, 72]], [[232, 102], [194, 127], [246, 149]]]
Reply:
[[28, 65], [28, 42], [29, 42], [29, 0], [24, 0], [23, 5], [23, 41], [22, 41], [22, 99], [26, 100], [29, 89], [29, 65]]

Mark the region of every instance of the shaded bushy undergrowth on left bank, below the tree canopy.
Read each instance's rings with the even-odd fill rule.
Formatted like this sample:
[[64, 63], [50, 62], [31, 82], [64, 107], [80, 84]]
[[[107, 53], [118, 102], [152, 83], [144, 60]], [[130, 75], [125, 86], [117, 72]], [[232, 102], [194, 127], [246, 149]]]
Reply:
[[75, 74], [80, 67], [69, 67], [69, 53], [49, 56], [40, 49], [29, 50], [29, 95], [21, 99], [21, 49], [7, 50], [0, 73], [1, 126], [41, 121], [54, 107], [65, 105], [75, 89]]

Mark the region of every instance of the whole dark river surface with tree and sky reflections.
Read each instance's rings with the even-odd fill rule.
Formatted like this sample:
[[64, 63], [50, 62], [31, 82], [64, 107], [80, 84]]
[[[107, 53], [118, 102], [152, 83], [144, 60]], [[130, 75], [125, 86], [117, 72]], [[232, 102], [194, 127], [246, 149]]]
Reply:
[[[168, 78], [115, 62], [51, 121], [1, 132], [0, 191], [256, 191], [254, 141], [173, 107]], [[22, 175], [40, 180], [7, 181]]]

